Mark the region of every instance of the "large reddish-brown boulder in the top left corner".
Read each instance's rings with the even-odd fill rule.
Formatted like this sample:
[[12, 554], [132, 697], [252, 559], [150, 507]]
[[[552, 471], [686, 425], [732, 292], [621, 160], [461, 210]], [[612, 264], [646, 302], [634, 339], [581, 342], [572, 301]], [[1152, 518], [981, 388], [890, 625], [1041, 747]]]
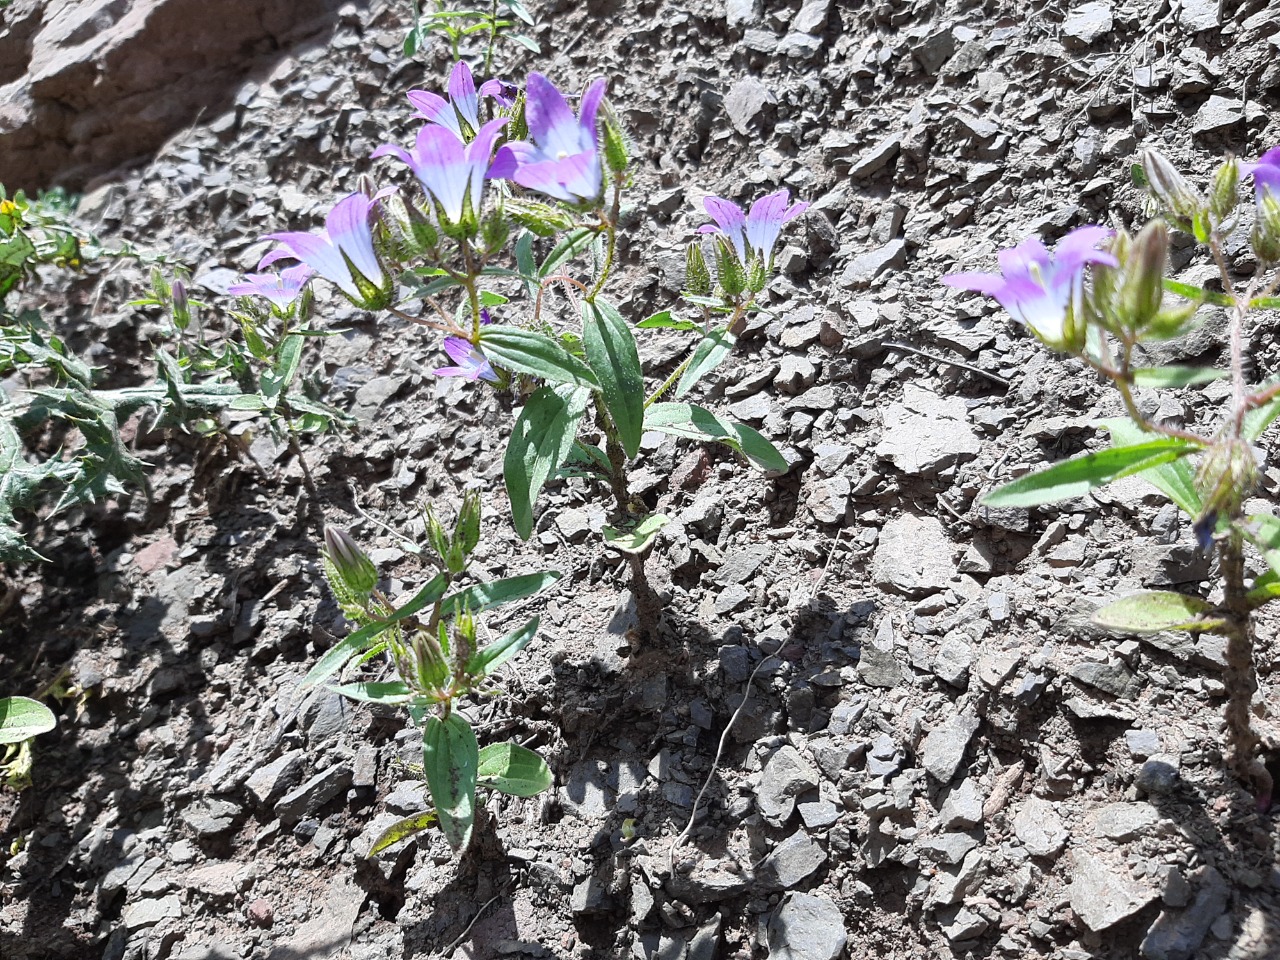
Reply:
[[147, 156], [342, 0], [14, 0], [0, 24], [0, 183], [83, 184]]

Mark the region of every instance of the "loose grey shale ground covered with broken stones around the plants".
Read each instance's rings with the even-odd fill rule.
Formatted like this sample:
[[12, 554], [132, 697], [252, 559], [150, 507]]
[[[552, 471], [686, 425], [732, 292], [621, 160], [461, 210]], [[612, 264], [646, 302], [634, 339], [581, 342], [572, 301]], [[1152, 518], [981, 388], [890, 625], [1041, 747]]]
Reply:
[[[303, 695], [344, 628], [319, 575], [300, 463], [262, 434], [209, 447], [146, 431], [151, 502], [36, 535], [0, 662], [84, 692], [38, 741], [36, 785], [0, 797], [0, 955], [45, 957], [1146, 957], [1280, 955], [1271, 814], [1222, 765], [1211, 636], [1097, 635], [1139, 586], [1212, 591], [1187, 524], [1140, 481], [1061, 509], [978, 506], [997, 483], [1102, 443], [1117, 401], [982, 300], [937, 283], [998, 247], [1140, 221], [1139, 146], [1189, 170], [1280, 142], [1280, 10], [1166, 4], [543, 3], [536, 64], [603, 74], [640, 154], [618, 300], [680, 288], [701, 197], [787, 186], [771, 314], [703, 392], [795, 467], [646, 438], [635, 488], [675, 518], [653, 566], [669, 646], [631, 654], [625, 568], [589, 535], [577, 481], [515, 540], [506, 416], [436, 380], [433, 338], [328, 301], [310, 369], [360, 420], [306, 456], [332, 522], [393, 585], [419, 504], [494, 490], [486, 576], [564, 572], [524, 611], [539, 640], [476, 708], [536, 746], [554, 792], [494, 799], [474, 855], [443, 840], [379, 858], [421, 805], [403, 718]], [[92, 187], [109, 239], [195, 266], [219, 301], [273, 229], [306, 229], [415, 127], [403, 100], [448, 63], [399, 51], [408, 4], [347, 6], [324, 44], [247, 79], [234, 108], [145, 169]], [[509, 73], [534, 65], [508, 54]], [[385, 169], [379, 169], [379, 177]], [[1192, 279], [1208, 275], [1190, 246]], [[1231, 251], [1242, 273], [1253, 269]], [[72, 283], [72, 339], [114, 384], [159, 328], [123, 306], [128, 264]], [[1221, 362], [1221, 319], [1162, 361]], [[662, 374], [672, 346], [645, 346]], [[1267, 321], [1258, 376], [1280, 366]], [[1212, 421], [1217, 385], [1142, 396]], [[1274, 454], [1274, 440], [1265, 443]], [[1280, 488], [1263, 470], [1260, 497]], [[500, 631], [503, 622], [489, 625]], [[1280, 713], [1260, 628], [1260, 726]], [[722, 733], [719, 765], [713, 760]], [[704, 781], [710, 786], [685, 842]], [[10, 845], [15, 845], [10, 847]]]

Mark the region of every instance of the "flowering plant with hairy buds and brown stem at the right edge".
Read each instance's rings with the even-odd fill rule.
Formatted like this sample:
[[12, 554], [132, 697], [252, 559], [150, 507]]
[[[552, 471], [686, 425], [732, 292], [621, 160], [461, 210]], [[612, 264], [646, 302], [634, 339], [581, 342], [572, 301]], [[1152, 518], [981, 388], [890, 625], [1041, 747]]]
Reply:
[[[1254, 444], [1280, 416], [1280, 379], [1251, 383], [1245, 343], [1265, 311], [1280, 308], [1280, 147], [1257, 163], [1228, 157], [1196, 187], [1155, 151], [1134, 169], [1162, 216], [1135, 236], [1083, 227], [1050, 252], [1037, 238], [1000, 255], [1000, 274], [954, 274], [945, 283], [995, 297], [1044, 346], [1082, 360], [1119, 392], [1126, 417], [1105, 421], [1111, 447], [1038, 470], [984, 498], [998, 507], [1034, 507], [1079, 497], [1137, 475], [1169, 497], [1192, 521], [1203, 550], [1217, 557], [1220, 593], [1201, 596], [1146, 590], [1102, 607], [1094, 621], [1120, 634], [1181, 630], [1226, 640], [1228, 763], [1258, 808], [1272, 800], [1263, 744], [1253, 716], [1258, 691], [1254, 621], [1280, 596], [1280, 518], [1245, 507], [1258, 484]], [[1240, 279], [1226, 243], [1245, 229], [1239, 182], [1253, 178], [1248, 246], [1257, 269]], [[1169, 273], [1170, 232], [1190, 236], [1217, 266], [1221, 291], [1178, 282]], [[1203, 307], [1228, 315], [1225, 370], [1142, 364], [1143, 344], [1180, 337]], [[1184, 388], [1225, 379], [1230, 392], [1208, 431], [1157, 422], [1140, 410], [1137, 388]], [[1265, 568], [1251, 576], [1247, 547]]]

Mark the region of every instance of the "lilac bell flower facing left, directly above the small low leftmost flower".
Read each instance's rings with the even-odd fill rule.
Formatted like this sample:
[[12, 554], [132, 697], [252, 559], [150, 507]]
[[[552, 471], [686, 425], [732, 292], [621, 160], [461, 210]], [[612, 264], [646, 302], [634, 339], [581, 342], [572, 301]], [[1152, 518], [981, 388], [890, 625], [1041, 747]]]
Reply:
[[334, 205], [317, 233], [269, 233], [268, 239], [279, 241], [280, 246], [262, 257], [257, 269], [293, 257], [335, 284], [353, 303], [369, 303], [376, 289], [390, 285], [374, 252], [369, 225], [376, 202], [378, 197], [349, 193]]

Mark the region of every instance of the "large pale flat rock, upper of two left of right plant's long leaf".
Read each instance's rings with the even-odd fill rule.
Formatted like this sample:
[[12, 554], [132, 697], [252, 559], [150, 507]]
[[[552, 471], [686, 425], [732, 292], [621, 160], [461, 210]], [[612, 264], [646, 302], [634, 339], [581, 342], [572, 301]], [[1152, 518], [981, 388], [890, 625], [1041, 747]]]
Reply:
[[908, 475], [933, 476], [960, 461], [973, 460], [982, 449], [969, 429], [960, 397], [940, 397], [906, 384], [901, 403], [890, 403], [883, 420], [883, 439], [876, 447], [876, 456]]

